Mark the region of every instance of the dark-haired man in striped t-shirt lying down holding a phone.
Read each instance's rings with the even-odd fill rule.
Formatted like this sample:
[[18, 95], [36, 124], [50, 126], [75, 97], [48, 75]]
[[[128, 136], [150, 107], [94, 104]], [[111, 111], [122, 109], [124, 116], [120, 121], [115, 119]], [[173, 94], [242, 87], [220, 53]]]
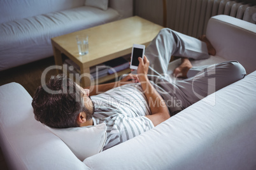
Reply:
[[[103, 150], [152, 129], [245, 76], [245, 69], [236, 61], [192, 67], [188, 58], [198, 60], [215, 55], [208, 39], [205, 36], [200, 39], [162, 29], [146, 48], [144, 59], [139, 58], [136, 75], [89, 87], [90, 90], [65, 75], [57, 75], [36, 90], [32, 100], [35, 118], [52, 128], [105, 123], [107, 140]], [[174, 75], [185, 79], [171, 82], [164, 76], [172, 55], [182, 57]], [[148, 74], [149, 61], [154, 72], [161, 76]], [[54, 93], [48, 93], [49, 90]], [[97, 90], [104, 93], [97, 95]]]

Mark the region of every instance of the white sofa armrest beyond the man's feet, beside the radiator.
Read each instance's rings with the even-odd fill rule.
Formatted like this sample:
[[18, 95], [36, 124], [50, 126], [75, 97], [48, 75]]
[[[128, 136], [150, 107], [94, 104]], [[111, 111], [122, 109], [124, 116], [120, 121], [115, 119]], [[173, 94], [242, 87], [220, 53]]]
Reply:
[[237, 60], [248, 74], [255, 70], [255, 24], [227, 15], [213, 16], [208, 22], [206, 37], [216, 49], [217, 56]]

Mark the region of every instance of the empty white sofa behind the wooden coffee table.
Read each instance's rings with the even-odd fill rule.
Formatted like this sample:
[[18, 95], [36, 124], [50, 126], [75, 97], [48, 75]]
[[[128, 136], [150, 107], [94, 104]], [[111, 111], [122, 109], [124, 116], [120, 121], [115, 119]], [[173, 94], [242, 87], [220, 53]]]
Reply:
[[52, 37], [132, 16], [132, 0], [109, 0], [104, 10], [85, 3], [0, 1], [0, 71], [52, 56]]

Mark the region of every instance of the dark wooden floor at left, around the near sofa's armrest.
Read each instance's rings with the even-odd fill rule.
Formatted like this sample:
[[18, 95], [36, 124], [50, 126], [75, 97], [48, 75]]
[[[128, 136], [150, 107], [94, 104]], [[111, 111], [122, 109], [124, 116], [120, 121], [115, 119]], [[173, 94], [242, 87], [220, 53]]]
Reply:
[[[36, 88], [41, 85], [41, 74], [43, 73], [43, 70], [54, 64], [54, 58], [51, 56], [50, 58], [39, 60], [37, 62], [1, 71], [0, 86], [10, 82], [18, 82], [31, 96], [34, 96]], [[46, 81], [50, 79], [51, 75], [57, 75], [55, 69], [46, 74]], [[2, 150], [0, 150], [0, 169], [8, 169]]]

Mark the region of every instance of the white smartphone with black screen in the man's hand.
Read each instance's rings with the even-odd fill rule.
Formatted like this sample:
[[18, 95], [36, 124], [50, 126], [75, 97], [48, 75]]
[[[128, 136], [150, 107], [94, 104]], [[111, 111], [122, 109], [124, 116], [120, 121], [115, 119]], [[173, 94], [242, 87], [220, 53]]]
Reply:
[[144, 58], [145, 46], [140, 44], [133, 44], [132, 58], [130, 69], [137, 70], [139, 66], [139, 57]]

